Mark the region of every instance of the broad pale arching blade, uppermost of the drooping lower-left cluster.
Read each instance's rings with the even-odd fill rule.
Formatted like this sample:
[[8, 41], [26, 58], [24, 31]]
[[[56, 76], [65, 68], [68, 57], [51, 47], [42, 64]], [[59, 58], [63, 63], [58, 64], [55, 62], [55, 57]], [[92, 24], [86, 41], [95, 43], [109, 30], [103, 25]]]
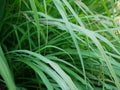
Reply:
[[[47, 59], [45, 56], [42, 56], [41, 54], [37, 54], [37, 53], [35, 53], [35, 52], [31, 52], [31, 51], [28, 51], [28, 50], [15, 50], [15, 51], [11, 51], [11, 53], [13, 53], [13, 52], [19, 52], [19, 53], [29, 54], [29, 55], [34, 56], [35, 58], [41, 60], [41, 61], [44, 62], [45, 64], [50, 65], [50, 66], [53, 68], [52, 72], [55, 71], [55, 72], [58, 74], [58, 76], [60, 76], [60, 77], [65, 81], [65, 83], [68, 85], [68, 87], [69, 87], [71, 90], [78, 90], [77, 87], [75, 86], [75, 84], [73, 83], [73, 81], [71, 80], [71, 78], [59, 67], [59, 65], [56, 64], [55, 62]], [[37, 62], [36, 62], [36, 63], [37, 63]], [[40, 64], [40, 62], [38, 62], [38, 63]], [[44, 67], [44, 65], [42, 65], [42, 66]], [[47, 68], [47, 69], [45, 69], [45, 68]], [[49, 70], [49, 69], [50, 69], [49, 67], [44, 67], [44, 68], [43, 68], [43, 70]], [[50, 70], [51, 70], [51, 69], [50, 69]], [[54, 74], [55, 74], [55, 72], [54, 72]], [[49, 72], [49, 73], [50, 73], [50, 72]], [[48, 74], [49, 74], [49, 73], [48, 73]], [[52, 75], [54, 75], [54, 74], [52, 73]], [[57, 76], [57, 77], [58, 77], [58, 76]], [[57, 79], [57, 77], [56, 77], [56, 79]], [[56, 80], [56, 81], [57, 81], [57, 80]], [[57, 82], [58, 82], [58, 81], [57, 81]], [[62, 84], [62, 83], [60, 83], [60, 82], [58, 82], [58, 83], [59, 83], [60, 85]], [[62, 84], [62, 85], [64, 85], [64, 84]], [[66, 85], [65, 85], [64, 87], [66, 87]], [[61, 88], [62, 88], [62, 87], [61, 87]], [[68, 89], [63, 89], [63, 90], [68, 90]]]

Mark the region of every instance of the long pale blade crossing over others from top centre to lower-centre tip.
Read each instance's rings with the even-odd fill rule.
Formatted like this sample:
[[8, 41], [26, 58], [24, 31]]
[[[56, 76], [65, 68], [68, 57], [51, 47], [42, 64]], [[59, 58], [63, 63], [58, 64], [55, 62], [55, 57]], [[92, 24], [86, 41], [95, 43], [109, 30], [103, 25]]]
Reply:
[[71, 27], [71, 25], [70, 25], [70, 23], [69, 23], [69, 21], [68, 21], [68, 18], [67, 18], [67, 16], [66, 16], [65, 9], [64, 9], [64, 7], [63, 7], [63, 5], [62, 5], [62, 3], [61, 3], [60, 0], [53, 0], [53, 2], [54, 2], [54, 4], [56, 5], [59, 13], [61, 14], [61, 16], [62, 16], [62, 18], [63, 18], [63, 22], [65, 23], [66, 28], [67, 28], [66, 30], [69, 31], [69, 33], [70, 33], [70, 35], [71, 35], [71, 37], [72, 37], [72, 39], [73, 39], [73, 42], [74, 42], [75, 47], [76, 47], [77, 52], [78, 52], [78, 56], [79, 56], [80, 61], [81, 61], [81, 65], [82, 65], [82, 69], [83, 69], [83, 73], [84, 73], [84, 79], [85, 79], [85, 81], [86, 81], [86, 74], [85, 74], [85, 68], [84, 68], [84, 63], [83, 63], [81, 51], [80, 51], [78, 42], [77, 42], [77, 40], [76, 40], [76, 38], [75, 38], [75, 33], [73, 32], [73, 29], [72, 29], [72, 27]]

